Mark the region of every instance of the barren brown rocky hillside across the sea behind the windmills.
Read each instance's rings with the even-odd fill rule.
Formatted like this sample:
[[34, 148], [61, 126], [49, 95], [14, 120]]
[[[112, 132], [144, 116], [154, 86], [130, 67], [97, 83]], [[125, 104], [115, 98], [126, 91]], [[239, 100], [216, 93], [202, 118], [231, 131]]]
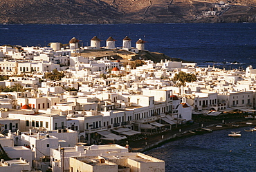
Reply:
[[[255, 22], [255, 0], [0, 0], [0, 23]], [[216, 14], [206, 14], [215, 11]], [[209, 13], [209, 12], [208, 12]]]

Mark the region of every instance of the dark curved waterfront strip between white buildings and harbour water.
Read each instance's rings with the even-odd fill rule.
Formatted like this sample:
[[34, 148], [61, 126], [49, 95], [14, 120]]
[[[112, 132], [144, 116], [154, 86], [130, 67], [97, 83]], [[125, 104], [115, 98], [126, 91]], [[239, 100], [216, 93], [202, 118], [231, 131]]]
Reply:
[[[195, 135], [201, 135], [204, 133], [209, 133], [209, 131], [202, 131], [200, 133], [190, 133], [191, 130], [194, 129], [201, 129], [199, 126], [199, 123], [195, 123], [191, 126], [182, 127], [181, 129], [175, 129], [175, 130], [168, 130], [162, 133], [157, 133], [152, 136], [148, 136], [147, 138], [143, 140], [136, 140], [136, 141], [130, 141], [129, 146], [131, 146], [132, 152], [141, 152], [144, 153], [145, 151], [149, 151], [151, 149], [161, 147], [163, 144], [167, 142], [172, 142], [175, 140], [188, 138]], [[235, 126], [238, 125], [238, 127]], [[217, 127], [218, 126], [218, 127]], [[220, 127], [221, 126], [221, 127]], [[241, 127], [253, 127], [256, 126], [256, 120], [250, 119], [242, 119], [240, 121], [230, 121], [230, 122], [219, 122], [219, 123], [212, 123], [210, 125], [205, 125], [203, 127], [206, 127], [208, 129], [211, 129], [212, 131], [218, 131], [223, 129], [239, 129]]]

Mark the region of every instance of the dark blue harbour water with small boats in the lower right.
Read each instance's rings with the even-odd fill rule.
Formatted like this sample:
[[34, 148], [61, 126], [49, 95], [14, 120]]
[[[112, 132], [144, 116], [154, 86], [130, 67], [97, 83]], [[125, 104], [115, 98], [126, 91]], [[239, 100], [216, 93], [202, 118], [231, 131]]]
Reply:
[[[256, 171], [256, 132], [224, 129], [164, 144], [145, 152], [165, 160], [165, 171]], [[241, 131], [241, 137], [228, 136]]]

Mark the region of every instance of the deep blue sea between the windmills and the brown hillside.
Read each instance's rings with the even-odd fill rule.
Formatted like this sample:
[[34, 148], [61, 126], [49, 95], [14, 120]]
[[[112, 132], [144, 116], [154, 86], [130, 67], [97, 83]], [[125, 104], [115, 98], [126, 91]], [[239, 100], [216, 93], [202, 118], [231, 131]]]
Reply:
[[145, 49], [167, 56], [226, 69], [256, 68], [256, 23], [163, 23], [113, 25], [0, 25], [0, 45], [45, 46], [68, 43], [73, 37], [86, 46], [93, 36], [109, 36], [122, 46], [125, 36], [132, 46], [147, 41]]

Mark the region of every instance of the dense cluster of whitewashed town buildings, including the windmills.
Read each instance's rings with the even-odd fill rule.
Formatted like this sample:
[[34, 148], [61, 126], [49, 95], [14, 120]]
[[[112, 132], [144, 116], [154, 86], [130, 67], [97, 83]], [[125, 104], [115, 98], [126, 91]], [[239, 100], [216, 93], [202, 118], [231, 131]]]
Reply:
[[[10, 76], [0, 86], [26, 89], [0, 93], [0, 152], [12, 158], [1, 160], [0, 171], [165, 171], [165, 162], [118, 144], [171, 130], [192, 121], [192, 114], [255, 111], [252, 66], [225, 70], [166, 60], [132, 69], [107, 58], [72, 56], [116, 49], [113, 38], [107, 47], [99, 40], [93, 37], [91, 47], [79, 47], [75, 38], [66, 48], [0, 47], [0, 73]], [[120, 48], [143, 51], [144, 41], [134, 48], [125, 37]], [[45, 79], [54, 69], [65, 77]], [[176, 87], [179, 72], [197, 80]]]

